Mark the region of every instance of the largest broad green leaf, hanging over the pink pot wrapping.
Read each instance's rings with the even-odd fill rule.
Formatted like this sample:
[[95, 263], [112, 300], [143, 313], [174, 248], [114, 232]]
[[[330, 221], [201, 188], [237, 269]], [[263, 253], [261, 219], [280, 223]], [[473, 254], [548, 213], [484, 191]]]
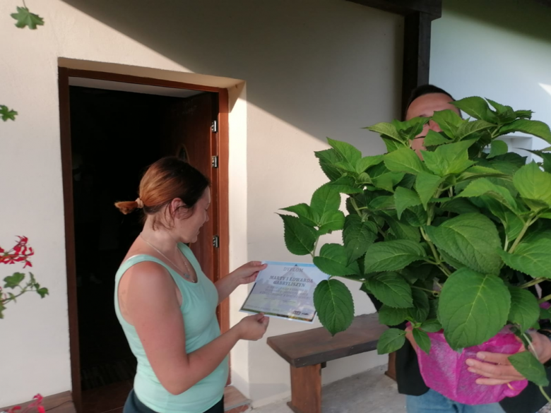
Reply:
[[503, 280], [468, 268], [453, 273], [444, 283], [438, 320], [452, 349], [490, 340], [507, 321], [511, 295]]

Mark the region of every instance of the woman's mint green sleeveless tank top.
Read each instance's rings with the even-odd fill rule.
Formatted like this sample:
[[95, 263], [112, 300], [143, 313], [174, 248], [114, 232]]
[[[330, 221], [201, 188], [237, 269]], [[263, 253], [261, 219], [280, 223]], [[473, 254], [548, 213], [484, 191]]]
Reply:
[[158, 413], [202, 413], [222, 399], [227, 381], [227, 357], [215, 371], [196, 383], [180, 395], [170, 394], [158, 381], [149, 364], [146, 352], [133, 325], [127, 323], [119, 309], [119, 282], [122, 275], [132, 265], [143, 261], [153, 261], [165, 267], [182, 293], [182, 316], [186, 332], [186, 352], [189, 354], [208, 344], [220, 335], [220, 326], [216, 319], [218, 291], [201, 270], [194, 253], [185, 244], [178, 244], [180, 251], [193, 265], [197, 282], [184, 280], [168, 265], [158, 258], [148, 255], [133, 256], [120, 266], [115, 277], [114, 304], [117, 318], [122, 325], [130, 349], [138, 360], [138, 369], [134, 378], [134, 391], [144, 405]]

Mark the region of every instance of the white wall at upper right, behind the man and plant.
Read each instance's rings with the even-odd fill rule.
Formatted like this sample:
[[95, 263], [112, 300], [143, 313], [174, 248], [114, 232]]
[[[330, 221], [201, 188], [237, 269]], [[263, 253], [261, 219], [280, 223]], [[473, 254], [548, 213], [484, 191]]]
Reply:
[[[442, 18], [432, 23], [431, 83], [456, 99], [475, 95], [531, 109], [533, 119], [551, 124], [550, 22], [551, 7], [535, 0], [444, 0]], [[549, 146], [539, 138], [505, 140], [510, 148]]]

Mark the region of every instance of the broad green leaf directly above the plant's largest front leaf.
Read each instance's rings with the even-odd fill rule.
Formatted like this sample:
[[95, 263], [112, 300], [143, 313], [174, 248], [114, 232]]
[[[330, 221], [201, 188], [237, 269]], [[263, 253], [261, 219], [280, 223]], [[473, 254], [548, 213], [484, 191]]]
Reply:
[[499, 274], [501, 240], [490, 218], [480, 213], [459, 215], [439, 227], [426, 227], [438, 247], [468, 268], [485, 274]]

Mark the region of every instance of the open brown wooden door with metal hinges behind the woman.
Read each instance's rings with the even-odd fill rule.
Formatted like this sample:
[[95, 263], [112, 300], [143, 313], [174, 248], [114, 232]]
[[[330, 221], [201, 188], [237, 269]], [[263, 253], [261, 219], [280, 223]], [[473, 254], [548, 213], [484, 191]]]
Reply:
[[[190, 245], [201, 268], [213, 282], [218, 280], [218, 169], [213, 167], [217, 155], [218, 133], [213, 121], [218, 119], [218, 94], [203, 92], [186, 99], [174, 100], [167, 107], [165, 155], [181, 157], [205, 174], [211, 181], [209, 220], [201, 228], [199, 238]], [[215, 165], [216, 166], [216, 165]]]

